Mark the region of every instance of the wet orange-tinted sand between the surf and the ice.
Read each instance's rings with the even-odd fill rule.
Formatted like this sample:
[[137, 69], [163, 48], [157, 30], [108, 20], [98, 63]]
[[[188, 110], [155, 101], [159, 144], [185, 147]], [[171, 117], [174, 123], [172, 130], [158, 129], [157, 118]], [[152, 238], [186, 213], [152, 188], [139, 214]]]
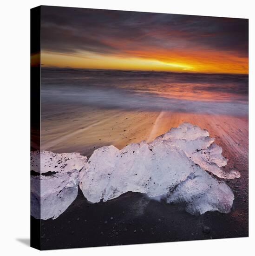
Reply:
[[42, 150], [91, 155], [95, 148], [106, 145], [123, 148], [134, 142], [152, 141], [182, 122], [190, 122], [207, 129], [227, 155], [248, 156], [246, 117], [98, 109], [76, 109], [57, 116], [42, 120]]

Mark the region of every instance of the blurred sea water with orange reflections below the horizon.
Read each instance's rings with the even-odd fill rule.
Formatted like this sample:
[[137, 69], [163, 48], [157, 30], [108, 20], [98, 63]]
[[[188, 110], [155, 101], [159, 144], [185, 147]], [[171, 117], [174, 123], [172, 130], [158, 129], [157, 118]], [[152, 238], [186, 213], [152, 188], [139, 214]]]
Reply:
[[42, 67], [41, 105], [246, 116], [248, 75]]

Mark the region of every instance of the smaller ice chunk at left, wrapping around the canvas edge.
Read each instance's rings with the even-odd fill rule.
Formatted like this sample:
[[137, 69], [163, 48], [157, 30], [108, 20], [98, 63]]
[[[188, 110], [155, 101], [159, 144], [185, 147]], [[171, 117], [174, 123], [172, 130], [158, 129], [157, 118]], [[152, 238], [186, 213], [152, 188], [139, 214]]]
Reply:
[[78, 153], [31, 152], [32, 174], [38, 174], [31, 175], [33, 217], [55, 219], [68, 208], [77, 197], [78, 170], [84, 167], [86, 161], [87, 158]]

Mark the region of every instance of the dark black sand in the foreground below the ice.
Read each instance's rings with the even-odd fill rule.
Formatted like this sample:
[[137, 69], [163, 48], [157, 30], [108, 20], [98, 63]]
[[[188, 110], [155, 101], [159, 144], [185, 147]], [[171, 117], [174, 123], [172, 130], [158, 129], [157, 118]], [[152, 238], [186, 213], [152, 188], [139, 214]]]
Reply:
[[[41, 249], [158, 243], [248, 236], [248, 189], [242, 178], [228, 184], [235, 193], [231, 213], [192, 216], [183, 205], [126, 193], [91, 204], [78, 197], [57, 219], [41, 221]], [[32, 217], [33, 222], [39, 222]], [[207, 229], [206, 227], [209, 227]]]

